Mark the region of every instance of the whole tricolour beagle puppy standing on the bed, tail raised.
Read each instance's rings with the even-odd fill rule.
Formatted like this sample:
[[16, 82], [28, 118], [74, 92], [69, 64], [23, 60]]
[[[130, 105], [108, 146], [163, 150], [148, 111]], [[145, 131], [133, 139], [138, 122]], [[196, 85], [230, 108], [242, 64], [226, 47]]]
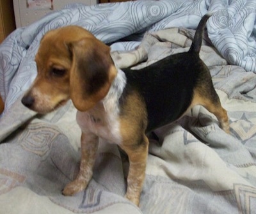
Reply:
[[147, 133], [203, 105], [229, 132], [227, 112], [199, 57], [205, 15], [188, 52], [165, 57], [146, 68], [116, 68], [108, 45], [82, 27], [67, 26], [45, 34], [35, 57], [38, 75], [22, 98], [45, 114], [71, 99], [81, 127], [81, 164], [64, 195], [84, 190], [93, 175], [99, 138], [115, 143], [129, 157], [125, 197], [140, 203], [148, 155]]

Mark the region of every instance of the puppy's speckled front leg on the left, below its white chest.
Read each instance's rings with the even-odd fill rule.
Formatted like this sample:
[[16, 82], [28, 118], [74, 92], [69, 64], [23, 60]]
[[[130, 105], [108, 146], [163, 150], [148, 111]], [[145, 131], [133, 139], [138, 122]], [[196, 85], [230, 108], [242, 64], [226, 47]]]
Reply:
[[87, 187], [92, 178], [98, 144], [97, 135], [82, 132], [80, 171], [76, 179], [66, 185], [62, 192], [63, 195], [74, 195]]

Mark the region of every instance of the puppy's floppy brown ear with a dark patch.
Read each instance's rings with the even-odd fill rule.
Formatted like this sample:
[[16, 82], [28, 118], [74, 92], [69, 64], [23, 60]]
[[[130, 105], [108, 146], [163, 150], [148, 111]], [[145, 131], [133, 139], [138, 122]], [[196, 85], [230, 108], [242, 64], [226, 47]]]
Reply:
[[86, 37], [68, 45], [72, 53], [70, 98], [76, 109], [87, 111], [102, 100], [116, 76], [108, 45]]

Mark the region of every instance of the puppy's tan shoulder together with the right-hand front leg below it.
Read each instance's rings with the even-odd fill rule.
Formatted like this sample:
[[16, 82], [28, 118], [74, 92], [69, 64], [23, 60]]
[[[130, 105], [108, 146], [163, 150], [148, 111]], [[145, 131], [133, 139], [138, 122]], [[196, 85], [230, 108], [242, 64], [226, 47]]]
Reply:
[[123, 142], [120, 147], [127, 153], [130, 163], [125, 197], [138, 205], [148, 157], [145, 103], [139, 95], [133, 93], [127, 97], [123, 111], [124, 116], [120, 119]]

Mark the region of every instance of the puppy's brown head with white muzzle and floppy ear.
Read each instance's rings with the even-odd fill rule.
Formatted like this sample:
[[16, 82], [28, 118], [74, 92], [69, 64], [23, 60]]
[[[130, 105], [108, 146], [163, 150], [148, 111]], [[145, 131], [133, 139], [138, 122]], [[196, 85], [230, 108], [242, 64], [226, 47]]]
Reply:
[[109, 52], [81, 27], [49, 31], [35, 57], [38, 74], [22, 103], [47, 113], [71, 99], [79, 111], [87, 111], [107, 95], [116, 76]]

